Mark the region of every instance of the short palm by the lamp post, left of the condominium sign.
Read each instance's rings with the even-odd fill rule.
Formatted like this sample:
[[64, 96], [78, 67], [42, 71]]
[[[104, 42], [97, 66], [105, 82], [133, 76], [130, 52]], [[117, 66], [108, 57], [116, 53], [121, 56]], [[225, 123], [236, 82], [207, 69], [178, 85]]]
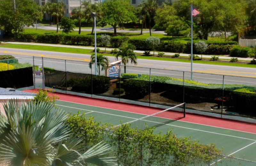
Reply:
[[[92, 64], [95, 63], [95, 54], [91, 55], [91, 62], [89, 63], [89, 67], [92, 68]], [[105, 57], [103, 54], [97, 54], [97, 68], [99, 70], [100, 75], [100, 66], [101, 71], [105, 70], [108, 67], [109, 60], [108, 57]]]

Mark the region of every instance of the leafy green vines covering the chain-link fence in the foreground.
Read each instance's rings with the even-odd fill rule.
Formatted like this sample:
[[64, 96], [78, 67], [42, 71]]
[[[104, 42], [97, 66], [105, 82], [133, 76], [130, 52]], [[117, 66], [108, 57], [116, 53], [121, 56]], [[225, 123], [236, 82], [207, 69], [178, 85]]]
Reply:
[[84, 140], [84, 145], [108, 140], [119, 165], [206, 165], [216, 159], [212, 154], [220, 154], [212, 144], [177, 138], [171, 131], [154, 134], [153, 128], [139, 130], [130, 124], [111, 129], [109, 124], [102, 125], [93, 117], [78, 115], [69, 115], [67, 119], [72, 132]]

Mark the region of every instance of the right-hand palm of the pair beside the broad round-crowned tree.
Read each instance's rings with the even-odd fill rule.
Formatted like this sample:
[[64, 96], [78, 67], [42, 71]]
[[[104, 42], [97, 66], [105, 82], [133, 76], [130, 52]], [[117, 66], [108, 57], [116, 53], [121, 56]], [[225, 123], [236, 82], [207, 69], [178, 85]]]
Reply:
[[145, 12], [149, 19], [149, 34], [151, 36], [151, 19], [155, 15], [156, 9], [158, 7], [158, 4], [156, 3], [156, 0], [146, 0], [145, 2]]

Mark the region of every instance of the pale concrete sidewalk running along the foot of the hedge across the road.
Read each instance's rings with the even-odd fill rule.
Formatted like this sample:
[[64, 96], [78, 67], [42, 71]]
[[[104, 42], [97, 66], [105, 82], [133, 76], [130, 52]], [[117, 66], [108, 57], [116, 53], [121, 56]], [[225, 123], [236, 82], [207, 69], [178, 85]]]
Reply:
[[[74, 45], [62, 45], [62, 44], [44, 44], [44, 43], [29, 43], [29, 42], [2, 42], [2, 43], [10, 43], [10, 44], [27, 44], [27, 45], [39, 45], [39, 46], [52, 46], [52, 47], [66, 47], [66, 48], [77, 48], [77, 49], [94, 49], [94, 47], [89, 47], [89, 46], [74, 46]], [[105, 48], [102, 47], [98, 47], [100, 48], [100, 50], [105, 50]], [[111, 51], [111, 48], [107, 48], [106, 50]], [[141, 53], [143, 54], [144, 51], [139, 51], [139, 50], [135, 50], [134, 52], [136, 53]], [[153, 54], [153, 51], [150, 52], [151, 54]], [[157, 51], [155, 51], [155, 54], [157, 54]], [[164, 52], [165, 55], [174, 55], [175, 53], [170, 53], [170, 52]], [[183, 54], [180, 53], [180, 56], [184, 56], [184, 57], [188, 57], [190, 54]], [[199, 57], [201, 57], [201, 55], [198, 55]], [[203, 58], [211, 58], [211, 55], [202, 55]], [[218, 56], [220, 59], [226, 59], [226, 60], [230, 60], [233, 57], [229, 57], [229, 56]], [[251, 61], [253, 58], [241, 58], [241, 57], [237, 57], [238, 60], [243, 60], [243, 61]]]

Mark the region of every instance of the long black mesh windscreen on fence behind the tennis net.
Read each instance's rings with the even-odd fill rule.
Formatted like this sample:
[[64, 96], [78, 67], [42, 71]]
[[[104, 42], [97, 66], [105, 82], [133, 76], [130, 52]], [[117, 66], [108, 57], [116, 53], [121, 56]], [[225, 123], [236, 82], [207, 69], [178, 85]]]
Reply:
[[[133, 75], [131, 75], [132, 77]], [[90, 94], [92, 97], [140, 104], [174, 106], [186, 102], [187, 109], [204, 115], [245, 116], [256, 118], [255, 93], [225, 89], [219, 84], [191, 84], [183, 79], [162, 78], [149, 81], [148, 75], [141, 78], [105, 77], [91, 74], [48, 70], [45, 72], [45, 86], [73, 93]], [[149, 78], [149, 77], [148, 77]], [[163, 79], [167, 79], [164, 81]], [[204, 113], [202, 112], [204, 111]], [[205, 114], [205, 112], [208, 112]], [[214, 114], [214, 115], [213, 115]]]

